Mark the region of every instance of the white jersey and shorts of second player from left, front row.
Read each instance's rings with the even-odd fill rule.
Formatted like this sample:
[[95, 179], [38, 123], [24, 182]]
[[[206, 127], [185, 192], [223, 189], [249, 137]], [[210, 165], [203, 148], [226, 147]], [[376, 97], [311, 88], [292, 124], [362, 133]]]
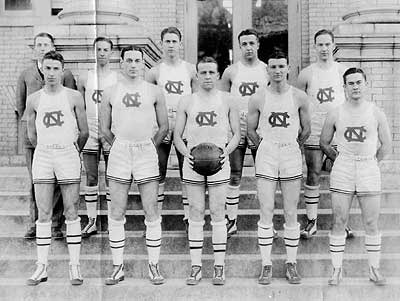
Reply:
[[152, 141], [155, 89], [141, 81], [132, 88], [115, 86], [110, 101], [115, 141], [111, 146], [107, 177], [111, 181], [143, 184], [159, 180], [158, 156]]

